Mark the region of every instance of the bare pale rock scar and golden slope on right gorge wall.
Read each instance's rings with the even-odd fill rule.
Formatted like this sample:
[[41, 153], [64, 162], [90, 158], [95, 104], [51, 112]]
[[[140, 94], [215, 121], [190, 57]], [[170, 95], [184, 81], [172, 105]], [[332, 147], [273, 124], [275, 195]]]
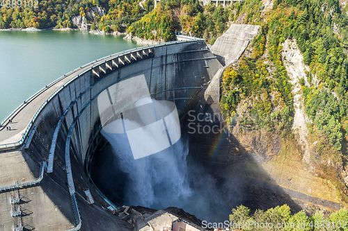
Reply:
[[[248, 114], [248, 110], [257, 106], [254, 99], [265, 101], [257, 94], [244, 98], [237, 105], [235, 112], [238, 116], [232, 123], [228, 157], [229, 170], [231, 174], [246, 176], [256, 184], [260, 182], [259, 185], [264, 185], [266, 189], [274, 190], [271, 185], [276, 185], [280, 194], [290, 196], [291, 200], [295, 201], [290, 205], [287, 200], [278, 201], [277, 199], [274, 206], [287, 203], [292, 207], [292, 211], [305, 209], [309, 214], [320, 209], [324, 211], [340, 209], [342, 206], [341, 198], [338, 196], [340, 189], [335, 185], [336, 182], [331, 183], [327, 180], [331, 178], [331, 172], [321, 171], [314, 163], [321, 162], [321, 160], [317, 160], [321, 157], [318, 157], [317, 147], [315, 147], [315, 143], [319, 144], [321, 141], [319, 137], [314, 137], [313, 141], [313, 135], [308, 134], [306, 123], [310, 121], [304, 111], [300, 85], [301, 78], [304, 79], [306, 85], [309, 85], [306, 77], [308, 67], [303, 64], [303, 55], [297, 49], [296, 41], [286, 40], [282, 46], [281, 57], [287, 75], [290, 77], [289, 82], [294, 95], [295, 114], [291, 130], [294, 138], [292, 134], [282, 135], [282, 130], [278, 127], [268, 130], [267, 127], [259, 126], [258, 123], [242, 123], [244, 119], [253, 119]], [[252, 52], [252, 49], [246, 51], [246, 57], [250, 58]], [[269, 68], [267, 67], [269, 76], [266, 78], [271, 79], [274, 65], [268, 59], [267, 47], [260, 61], [269, 65]], [[239, 63], [236, 64], [236, 69], [238, 65]], [[313, 80], [316, 82], [315, 78]], [[315, 85], [315, 83], [313, 84]], [[271, 93], [268, 100], [275, 101], [276, 99], [276, 94]], [[278, 108], [275, 107], [274, 110], [278, 110]], [[272, 110], [272, 112], [274, 111]], [[331, 160], [331, 164], [333, 162], [336, 166], [342, 165], [340, 161]], [[339, 168], [338, 172], [340, 172]], [[267, 185], [264, 182], [271, 184]], [[316, 198], [321, 198], [321, 200]]]

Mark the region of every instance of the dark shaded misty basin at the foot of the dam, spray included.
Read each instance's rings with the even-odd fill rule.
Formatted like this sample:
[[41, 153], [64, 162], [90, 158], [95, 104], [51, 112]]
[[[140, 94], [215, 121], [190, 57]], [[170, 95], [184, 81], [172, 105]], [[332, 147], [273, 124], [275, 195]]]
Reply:
[[[193, 105], [192, 110], [180, 117], [180, 142], [141, 161], [132, 157], [125, 160], [129, 147], [117, 146], [114, 142], [110, 144], [103, 139], [90, 162], [90, 176], [95, 185], [118, 206], [141, 205], [152, 209], [179, 207], [209, 222], [228, 220], [231, 209], [238, 205], [255, 211], [286, 203], [293, 213], [299, 212], [301, 207], [290, 196], [281, 189], [269, 189], [267, 183], [260, 180], [267, 178], [267, 173], [234, 135], [228, 132], [203, 132], [205, 126], [221, 126], [221, 121], [206, 121], [203, 117], [193, 121], [193, 117], [198, 119], [202, 112], [199, 108], [203, 108], [205, 115], [211, 113], [210, 118], [214, 118], [218, 113], [212, 110], [211, 105], [212, 102], [204, 99]], [[190, 124], [192, 121], [194, 125]], [[192, 132], [192, 128], [197, 128], [198, 124], [202, 132]], [[116, 142], [122, 143], [126, 144], [127, 141]], [[204, 152], [200, 150], [200, 147], [207, 148], [204, 146], [211, 148]], [[238, 147], [239, 157], [217, 163], [219, 158], [216, 155], [219, 155], [221, 146], [228, 146], [230, 153]], [[203, 153], [208, 153], [207, 157]], [[251, 162], [257, 168], [253, 171], [258, 172], [259, 179], [246, 177]]]

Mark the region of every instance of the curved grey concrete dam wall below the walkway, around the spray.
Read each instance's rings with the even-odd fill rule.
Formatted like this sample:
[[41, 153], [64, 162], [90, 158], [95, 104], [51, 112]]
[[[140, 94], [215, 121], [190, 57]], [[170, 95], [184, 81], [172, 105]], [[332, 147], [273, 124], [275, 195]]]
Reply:
[[[169, 42], [120, 53], [65, 83], [38, 114], [22, 150], [34, 175], [39, 174], [38, 162], [48, 163], [40, 187], [19, 190], [28, 195], [43, 191], [31, 202], [35, 212], [22, 221], [35, 230], [132, 230], [106, 209], [116, 207], [95, 191], [86, 171], [90, 154], [102, 139], [98, 94], [120, 80], [143, 74], [153, 99], [173, 101], [178, 113], [184, 114], [219, 68], [204, 40]], [[93, 205], [88, 204], [86, 189], [95, 200]], [[54, 207], [42, 204], [48, 199]], [[54, 209], [66, 221], [52, 217], [49, 211]], [[10, 216], [1, 221], [6, 230], [12, 222]]]

